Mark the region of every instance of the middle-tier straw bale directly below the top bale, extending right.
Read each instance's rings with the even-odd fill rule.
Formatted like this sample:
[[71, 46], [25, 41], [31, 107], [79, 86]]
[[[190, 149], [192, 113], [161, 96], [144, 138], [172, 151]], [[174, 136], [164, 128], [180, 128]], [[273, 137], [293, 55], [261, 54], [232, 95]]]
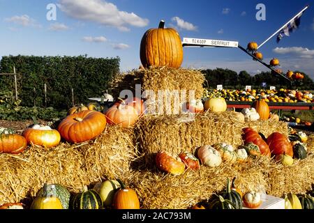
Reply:
[[151, 164], [160, 150], [171, 153], [193, 152], [206, 144], [225, 142], [235, 148], [243, 144], [241, 130], [251, 127], [268, 137], [272, 132], [287, 135], [287, 124], [276, 121], [241, 123], [232, 112], [205, 112], [190, 116], [144, 116], [135, 127], [135, 135], [145, 161]]

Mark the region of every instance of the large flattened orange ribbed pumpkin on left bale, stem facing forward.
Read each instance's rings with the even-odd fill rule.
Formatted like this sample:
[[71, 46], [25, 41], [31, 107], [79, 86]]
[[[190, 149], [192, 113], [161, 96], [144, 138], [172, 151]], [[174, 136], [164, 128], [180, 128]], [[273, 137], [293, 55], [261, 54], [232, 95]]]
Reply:
[[72, 143], [89, 141], [105, 130], [106, 117], [97, 111], [82, 111], [66, 116], [58, 126], [63, 139]]

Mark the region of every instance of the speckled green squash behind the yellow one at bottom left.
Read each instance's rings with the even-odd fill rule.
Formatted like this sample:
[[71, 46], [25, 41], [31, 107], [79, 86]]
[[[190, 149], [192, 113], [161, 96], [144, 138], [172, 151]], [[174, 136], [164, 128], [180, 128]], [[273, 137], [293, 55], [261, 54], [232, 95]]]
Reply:
[[[44, 187], [38, 191], [37, 196], [43, 196]], [[66, 187], [59, 184], [46, 184], [46, 187], [47, 190], [51, 190], [54, 197], [57, 197], [61, 201], [63, 209], [68, 209], [70, 203], [70, 192], [66, 190]], [[52, 190], [52, 187], [54, 187], [54, 190]]]

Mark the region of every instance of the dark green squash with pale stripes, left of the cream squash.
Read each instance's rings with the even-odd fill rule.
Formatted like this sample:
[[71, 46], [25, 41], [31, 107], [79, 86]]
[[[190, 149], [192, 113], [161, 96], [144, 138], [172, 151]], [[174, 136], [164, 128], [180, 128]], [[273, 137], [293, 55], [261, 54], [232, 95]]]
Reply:
[[84, 192], [75, 195], [72, 201], [72, 209], [101, 209], [103, 200], [96, 190], [88, 190], [84, 187]]

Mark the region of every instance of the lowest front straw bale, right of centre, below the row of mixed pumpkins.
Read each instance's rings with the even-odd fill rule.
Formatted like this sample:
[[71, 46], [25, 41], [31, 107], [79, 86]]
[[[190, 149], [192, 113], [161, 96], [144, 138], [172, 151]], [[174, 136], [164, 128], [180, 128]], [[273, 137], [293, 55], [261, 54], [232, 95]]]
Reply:
[[234, 176], [237, 176], [237, 187], [243, 191], [266, 191], [268, 185], [264, 174], [269, 163], [267, 159], [248, 158], [246, 163], [223, 163], [216, 168], [202, 166], [200, 171], [186, 170], [180, 176], [160, 171], [135, 171], [129, 174], [128, 184], [135, 188], [142, 208], [188, 208], [223, 190], [227, 178], [232, 180]]

